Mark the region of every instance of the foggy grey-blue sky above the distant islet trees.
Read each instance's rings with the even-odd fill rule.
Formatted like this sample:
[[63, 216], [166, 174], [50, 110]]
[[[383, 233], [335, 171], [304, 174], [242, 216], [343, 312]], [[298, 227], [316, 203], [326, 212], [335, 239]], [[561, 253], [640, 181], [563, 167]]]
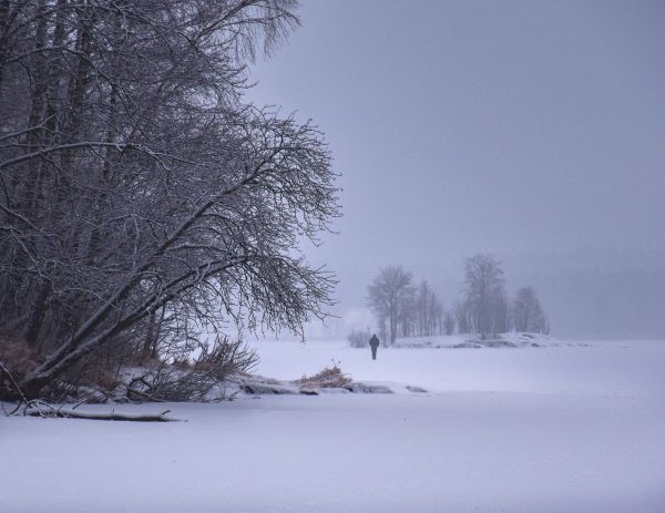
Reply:
[[482, 252], [509, 290], [536, 285], [554, 334], [611, 336], [604, 312], [644, 288], [663, 317], [665, 2], [303, 3], [247, 95], [327, 134], [344, 217], [307, 254], [338, 274], [341, 309], [392, 264], [450, 304]]

